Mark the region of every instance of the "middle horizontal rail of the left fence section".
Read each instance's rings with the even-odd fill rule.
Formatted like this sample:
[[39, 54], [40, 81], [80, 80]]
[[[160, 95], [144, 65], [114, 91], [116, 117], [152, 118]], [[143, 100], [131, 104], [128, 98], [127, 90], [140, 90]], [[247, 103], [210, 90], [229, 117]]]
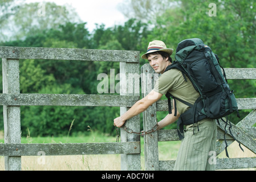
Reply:
[[0, 105], [9, 106], [132, 106], [139, 96], [111, 94], [0, 94]]

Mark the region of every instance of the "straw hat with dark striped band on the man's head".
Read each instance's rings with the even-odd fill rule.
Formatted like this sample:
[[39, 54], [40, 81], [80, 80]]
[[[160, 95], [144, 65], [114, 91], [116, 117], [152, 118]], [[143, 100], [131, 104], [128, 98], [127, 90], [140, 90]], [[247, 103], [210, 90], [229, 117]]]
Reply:
[[152, 52], [162, 51], [172, 55], [173, 49], [166, 48], [165, 43], [161, 40], [153, 40], [148, 44], [148, 51], [141, 56], [142, 59], [147, 59], [147, 54]]

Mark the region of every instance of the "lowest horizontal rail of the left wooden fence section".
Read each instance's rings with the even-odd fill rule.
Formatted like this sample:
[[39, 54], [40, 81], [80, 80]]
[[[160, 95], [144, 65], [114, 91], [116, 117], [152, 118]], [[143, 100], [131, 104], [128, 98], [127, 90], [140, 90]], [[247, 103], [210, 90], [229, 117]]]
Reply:
[[1, 144], [0, 155], [140, 154], [140, 142]]

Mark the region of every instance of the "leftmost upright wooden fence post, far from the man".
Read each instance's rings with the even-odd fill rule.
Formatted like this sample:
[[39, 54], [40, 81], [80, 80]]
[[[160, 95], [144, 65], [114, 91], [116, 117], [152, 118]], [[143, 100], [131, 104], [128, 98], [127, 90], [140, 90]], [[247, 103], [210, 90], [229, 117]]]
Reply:
[[[3, 93], [20, 93], [19, 60], [2, 59]], [[13, 98], [14, 100], [17, 98]], [[3, 125], [5, 143], [21, 143], [21, 108], [20, 106], [3, 106]], [[15, 150], [19, 150], [16, 148]], [[5, 156], [5, 169], [21, 171], [21, 156]]]

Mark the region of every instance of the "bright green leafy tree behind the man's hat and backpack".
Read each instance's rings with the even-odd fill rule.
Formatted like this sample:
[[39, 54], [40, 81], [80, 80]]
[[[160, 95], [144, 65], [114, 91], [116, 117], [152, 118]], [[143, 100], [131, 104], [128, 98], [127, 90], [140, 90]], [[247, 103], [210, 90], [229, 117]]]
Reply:
[[[212, 16], [213, 6], [207, 1], [177, 2], [175, 9], [168, 9], [157, 18], [155, 28], [144, 42], [145, 47], [149, 41], [159, 39], [175, 52], [182, 40], [200, 38], [217, 53], [223, 67], [256, 67], [255, 1], [216, 1], [216, 16]], [[229, 84], [238, 98], [256, 94], [253, 81], [229, 80]], [[247, 88], [246, 92], [242, 88]]]

